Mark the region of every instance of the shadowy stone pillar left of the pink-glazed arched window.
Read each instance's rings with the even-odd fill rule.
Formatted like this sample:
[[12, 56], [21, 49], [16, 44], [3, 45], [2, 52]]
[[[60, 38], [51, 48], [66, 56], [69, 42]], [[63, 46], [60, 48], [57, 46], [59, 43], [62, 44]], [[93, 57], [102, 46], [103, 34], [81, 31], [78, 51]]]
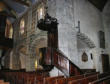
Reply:
[[14, 28], [14, 48], [12, 53], [12, 67], [13, 70], [19, 70], [20, 69], [20, 59], [19, 59], [19, 52], [18, 52], [18, 44], [19, 44], [19, 19], [17, 19], [13, 25]]

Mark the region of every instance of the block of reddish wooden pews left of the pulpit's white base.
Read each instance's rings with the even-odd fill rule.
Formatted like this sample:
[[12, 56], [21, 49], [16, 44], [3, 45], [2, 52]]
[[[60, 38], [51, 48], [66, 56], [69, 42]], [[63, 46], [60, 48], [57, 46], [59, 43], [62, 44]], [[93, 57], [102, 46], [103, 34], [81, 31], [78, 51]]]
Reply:
[[43, 78], [48, 76], [48, 71], [0, 71], [0, 79], [10, 84], [43, 84]]

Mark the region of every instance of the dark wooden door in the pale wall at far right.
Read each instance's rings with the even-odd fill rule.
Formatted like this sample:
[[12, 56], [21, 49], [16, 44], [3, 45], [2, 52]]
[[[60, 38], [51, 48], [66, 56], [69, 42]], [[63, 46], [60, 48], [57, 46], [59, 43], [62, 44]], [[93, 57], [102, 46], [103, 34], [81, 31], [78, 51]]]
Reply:
[[109, 55], [102, 54], [102, 69], [103, 72], [109, 71]]

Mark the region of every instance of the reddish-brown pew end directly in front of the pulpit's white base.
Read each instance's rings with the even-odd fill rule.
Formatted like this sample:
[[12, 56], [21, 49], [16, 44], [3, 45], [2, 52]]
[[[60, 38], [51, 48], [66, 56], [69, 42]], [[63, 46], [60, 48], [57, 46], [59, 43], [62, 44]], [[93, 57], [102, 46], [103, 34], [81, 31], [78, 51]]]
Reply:
[[43, 84], [55, 84], [55, 80], [59, 78], [64, 78], [64, 76], [46, 77], [43, 80]]

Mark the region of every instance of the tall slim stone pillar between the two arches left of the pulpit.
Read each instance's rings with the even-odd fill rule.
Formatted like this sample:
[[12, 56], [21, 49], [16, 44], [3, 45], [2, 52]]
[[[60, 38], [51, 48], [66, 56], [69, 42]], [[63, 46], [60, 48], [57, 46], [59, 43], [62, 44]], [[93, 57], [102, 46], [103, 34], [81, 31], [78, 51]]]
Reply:
[[32, 28], [32, 7], [30, 7], [28, 11], [28, 25], [27, 25], [27, 57], [26, 57], [26, 71], [34, 71], [33, 67], [33, 56], [31, 56], [30, 52], [30, 43], [31, 43], [31, 28]]

